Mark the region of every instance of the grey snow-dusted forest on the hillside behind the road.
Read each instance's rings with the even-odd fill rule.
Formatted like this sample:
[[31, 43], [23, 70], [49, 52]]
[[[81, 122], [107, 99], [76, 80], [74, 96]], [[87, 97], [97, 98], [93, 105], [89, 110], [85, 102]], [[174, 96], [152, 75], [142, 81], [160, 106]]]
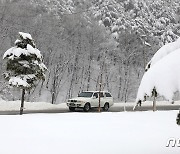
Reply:
[[[1, 57], [27, 32], [48, 68], [31, 101], [61, 103], [100, 82], [116, 101], [133, 101], [151, 57], [180, 36], [179, 0], [0, 0], [0, 8]], [[20, 98], [1, 75], [0, 85], [3, 99]]]

